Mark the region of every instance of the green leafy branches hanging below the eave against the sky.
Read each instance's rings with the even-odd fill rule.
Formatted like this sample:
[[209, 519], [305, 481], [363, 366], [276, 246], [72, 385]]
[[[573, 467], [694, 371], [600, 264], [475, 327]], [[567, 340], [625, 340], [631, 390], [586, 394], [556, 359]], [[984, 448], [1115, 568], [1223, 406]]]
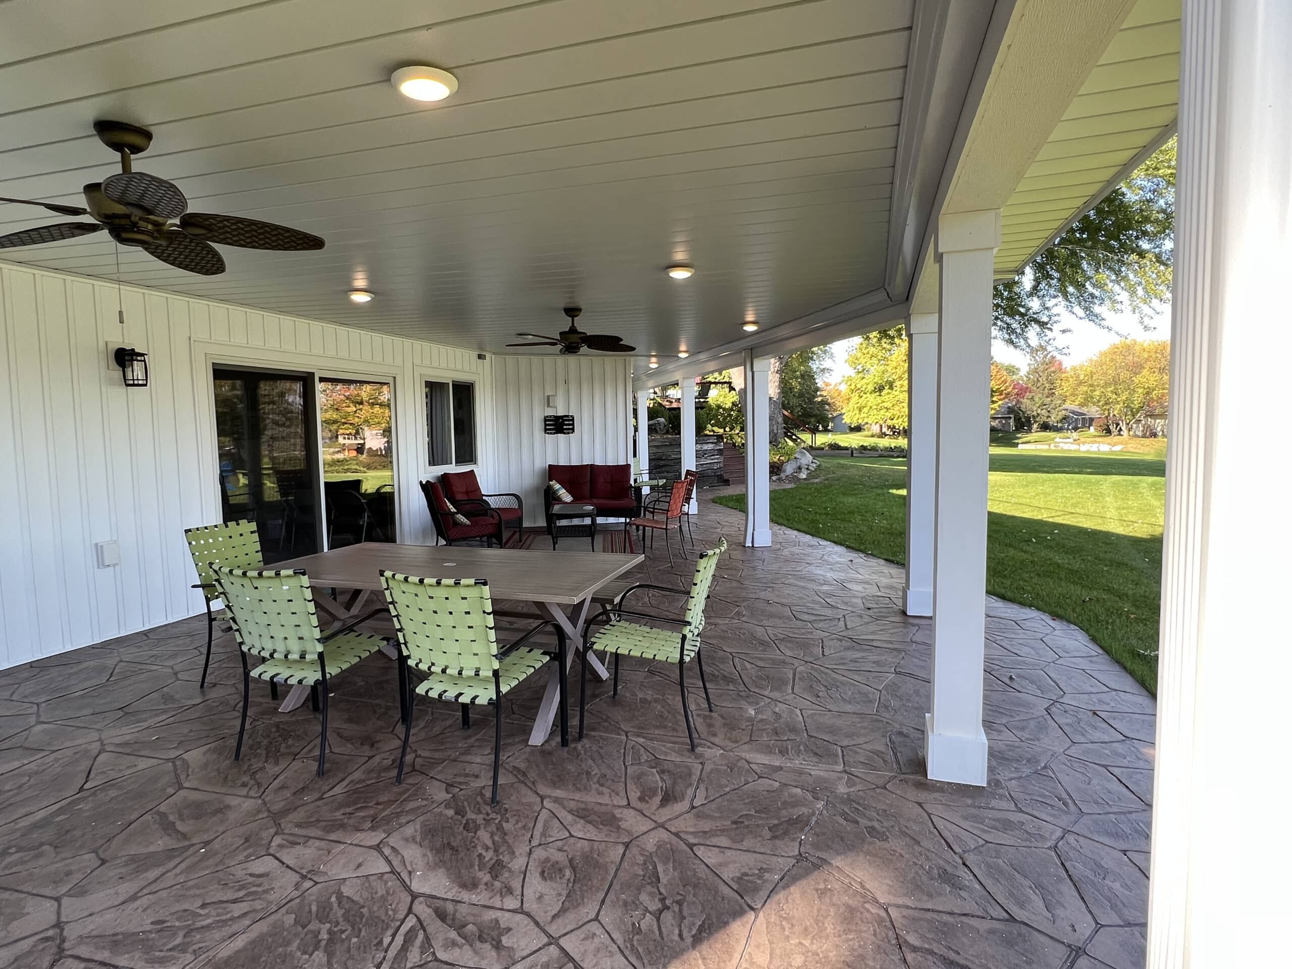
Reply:
[[1145, 322], [1171, 297], [1176, 140], [1076, 220], [992, 293], [996, 336], [1021, 350], [1050, 341], [1059, 313], [1110, 329], [1105, 314]]

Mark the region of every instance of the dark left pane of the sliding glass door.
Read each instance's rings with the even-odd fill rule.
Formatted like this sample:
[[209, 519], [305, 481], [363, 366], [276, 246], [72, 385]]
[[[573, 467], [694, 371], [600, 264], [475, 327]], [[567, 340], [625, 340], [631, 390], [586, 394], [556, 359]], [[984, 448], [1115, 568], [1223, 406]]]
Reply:
[[256, 521], [266, 563], [318, 552], [309, 379], [238, 370], [213, 376], [224, 519]]

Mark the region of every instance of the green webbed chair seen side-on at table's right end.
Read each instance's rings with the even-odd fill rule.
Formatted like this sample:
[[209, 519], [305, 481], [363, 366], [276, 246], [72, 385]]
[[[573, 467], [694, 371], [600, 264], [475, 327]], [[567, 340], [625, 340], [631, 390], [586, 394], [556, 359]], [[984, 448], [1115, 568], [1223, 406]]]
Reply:
[[[709, 709], [713, 709], [713, 700], [709, 698], [709, 685], [704, 681], [704, 656], [700, 652], [700, 633], [704, 630], [704, 602], [709, 597], [709, 588], [713, 585], [713, 575], [718, 567], [718, 556], [726, 552], [726, 539], [718, 541], [717, 548], [712, 548], [700, 556], [695, 565], [695, 578], [691, 588], [671, 589], [667, 585], [647, 585], [645, 583], [630, 585], [619, 596], [618, 601], [603, 609], [588, 620], [588, 628], [593, 623], [609, 620], [606, 625], [597, 630], [588, 641], [588, 649], [583, 651], [583, 668], [579, 674], [579, 739], [583, 739], [584, 720], [588, 712], [588, 652], [592, 650], [611, 652], [615, 656], [615, 686], [614, 696], [619, 695], [619, 658], [637, 656], [656, 663], [677, 663], [677, 678], [682, 689], [682, 717], [686, 720], [686, 735], [695, 749], [695, 726], [691, 720], [691, 705], [686, 699], [686, 664], [694, 656], [700, 671], [700, 686], [704, 687], [704, 700]], [[656, 616], [649, 612], [629, 612], [624, 606], [628, 597], [638, 589], [654, 592], [669, 592], [674, 596], [686, 596], [686, 612], [682, 619]], [[658, 629], [654, 625], [632, 620], [649, 620], [674, 627], [673, 629]]]

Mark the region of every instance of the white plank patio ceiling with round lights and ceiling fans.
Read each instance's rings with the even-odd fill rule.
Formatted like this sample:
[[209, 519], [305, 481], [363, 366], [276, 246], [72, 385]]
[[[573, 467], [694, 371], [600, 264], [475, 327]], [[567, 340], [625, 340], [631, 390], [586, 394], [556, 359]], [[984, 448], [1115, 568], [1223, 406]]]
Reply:
[[[129, 283], [499, 351], [580, 324], [672, 355], [880, 287], [915, 0], [8, 0], [0, 195], [136, 168], [327, 248]], [[460, 89], [417, 105], [406, 63]], [[0, 234], [66, 221], [0, 205]], [[106, 236], [4, 258], [114, 278]], [[696, 275], [674, 282], [673, 261]], [[355, 306], [363, 286], [377, 300]]]

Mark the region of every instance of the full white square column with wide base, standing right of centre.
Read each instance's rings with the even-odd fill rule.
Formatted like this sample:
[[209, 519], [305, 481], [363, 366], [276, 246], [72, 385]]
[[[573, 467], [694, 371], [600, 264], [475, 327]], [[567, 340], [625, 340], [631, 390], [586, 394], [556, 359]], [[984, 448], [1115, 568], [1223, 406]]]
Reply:
[[934, 484], [933, 695], [925, 760], [934, 780], [987, 783], [982, 730], [987, 589], [987, 432], [992, 257], [1000, 211], [938, 220], [941, 327]]

